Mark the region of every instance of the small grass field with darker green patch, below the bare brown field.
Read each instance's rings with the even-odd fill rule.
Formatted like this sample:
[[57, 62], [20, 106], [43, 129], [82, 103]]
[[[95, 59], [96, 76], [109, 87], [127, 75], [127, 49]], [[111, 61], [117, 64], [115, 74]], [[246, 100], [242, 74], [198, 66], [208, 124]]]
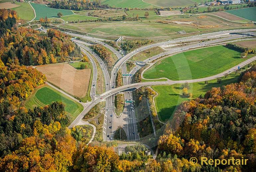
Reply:
[[55, 101], [63, 102], [65, 104], [65, 111], [68, 113], [71, 120], [74, 120], [75, 117], [83, 110], [82, 105], [71, 100], [48, 85], [36, 89], [24, 105], [28, 109], [33, 109], [35, 106], [44, 107]]

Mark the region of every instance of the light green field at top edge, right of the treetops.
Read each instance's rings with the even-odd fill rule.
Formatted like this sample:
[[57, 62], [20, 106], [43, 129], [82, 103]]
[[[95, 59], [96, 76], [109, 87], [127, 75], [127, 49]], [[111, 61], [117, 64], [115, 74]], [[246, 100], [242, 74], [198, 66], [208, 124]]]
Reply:
[[117, 8], [156, 8], [142, 0], [103, 0], [102, 3]]

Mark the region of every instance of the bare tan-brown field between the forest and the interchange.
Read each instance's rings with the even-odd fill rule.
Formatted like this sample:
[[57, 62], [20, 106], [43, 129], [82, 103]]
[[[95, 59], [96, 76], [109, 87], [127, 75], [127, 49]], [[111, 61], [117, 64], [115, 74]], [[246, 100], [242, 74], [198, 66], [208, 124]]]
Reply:
[[67, 63], [39, 66], [37, 69], [46, 75], [47, 81], [65, 92], [79, 98], [85, 97], [91, 69], [77, 70]]

